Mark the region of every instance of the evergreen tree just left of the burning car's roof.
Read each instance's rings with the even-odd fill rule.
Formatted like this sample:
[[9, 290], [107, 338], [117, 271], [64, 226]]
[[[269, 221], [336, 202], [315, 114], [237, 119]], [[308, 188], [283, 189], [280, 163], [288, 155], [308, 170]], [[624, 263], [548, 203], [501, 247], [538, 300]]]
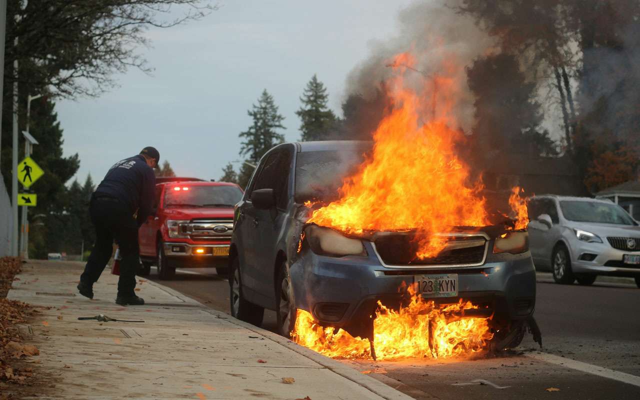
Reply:
[[256, 164], [271, 147], [284, 142], [284, 134], [277, 129], [284, 129], [284, 116], [278, 113], [278, 106], [267, 90], [262, 91], [258, 104], [253, 104], [247, 113], [253, 118], [253, 124], [239, 136], [244, 139], [240, 148], [241, 156], [249, 156], [249, 162]]

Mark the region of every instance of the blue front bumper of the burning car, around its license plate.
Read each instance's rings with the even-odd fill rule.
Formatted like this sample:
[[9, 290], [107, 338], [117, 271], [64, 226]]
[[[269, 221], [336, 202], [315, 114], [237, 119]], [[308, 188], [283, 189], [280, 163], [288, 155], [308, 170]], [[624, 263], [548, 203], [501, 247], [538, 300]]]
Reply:
[[458, 274], [457, 297], [428, 300], [456, 303], [463, 298], [492, 308], [500, 319], [526, 319], [535, 307], [536, 273], [528, 252], [514, 258], [475, 268], [387, 268], [374, 255], [336, 258], [308, 251], [291, 266], [291, 281], [296, 307], [323, 326], [342, 327], [369, 315], [378, 300], [400, 307], [407, 300], [401, 288], [425, 273]]

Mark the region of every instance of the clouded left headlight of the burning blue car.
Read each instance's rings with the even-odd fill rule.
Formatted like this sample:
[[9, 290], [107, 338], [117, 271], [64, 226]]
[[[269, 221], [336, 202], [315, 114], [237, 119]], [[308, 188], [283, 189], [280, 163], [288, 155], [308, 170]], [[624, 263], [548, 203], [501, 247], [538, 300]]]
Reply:
[[312, 252], [319, 255], [367, 255], [362, 240], [346, 237], [331, 228], [309, 225], [305, 236]]

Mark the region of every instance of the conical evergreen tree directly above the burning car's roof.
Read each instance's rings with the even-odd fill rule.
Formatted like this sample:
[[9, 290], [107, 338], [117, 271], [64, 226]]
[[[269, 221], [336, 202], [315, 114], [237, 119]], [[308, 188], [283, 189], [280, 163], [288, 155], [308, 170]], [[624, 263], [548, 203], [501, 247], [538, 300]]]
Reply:
[[330, 134], [336, 118], [333, 111], [326, 106], [327, 100], [326, 88], [314, 74], [300, 97], [302, 106], [296, 111], [302, 122], [300, 125], [301, 140], [326, 140]]

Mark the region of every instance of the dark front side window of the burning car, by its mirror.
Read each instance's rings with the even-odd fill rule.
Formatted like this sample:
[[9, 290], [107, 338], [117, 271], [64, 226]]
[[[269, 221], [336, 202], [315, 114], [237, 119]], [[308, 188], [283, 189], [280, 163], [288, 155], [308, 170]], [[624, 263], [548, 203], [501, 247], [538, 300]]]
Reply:
[[276, 207], [279, 209], [287, 208], [287, 202], [289, 202], [291, 152], [284, 150], [269, 154], [263, 164], [252, 190], [273, 189]]

